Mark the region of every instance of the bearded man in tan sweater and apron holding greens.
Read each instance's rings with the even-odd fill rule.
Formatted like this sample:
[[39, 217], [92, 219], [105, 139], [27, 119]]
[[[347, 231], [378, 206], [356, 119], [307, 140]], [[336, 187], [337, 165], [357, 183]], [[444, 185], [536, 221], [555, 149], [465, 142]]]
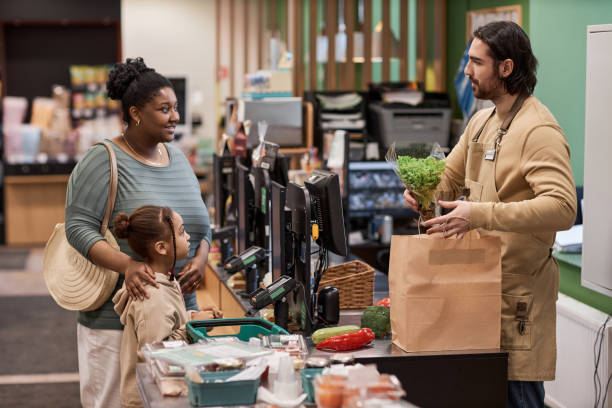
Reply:
[[[534, 96], [537, 60], [515, 23], [474, 32], [465, 74], [474, 96], [489, 99], [448, 156], [438, 192], [448, 214], [427, 231], [462, 237], [470, 229], [502, 242], [501, 347], [509, 352], [508, 406], [543, 407], [543, 381], [555, 378], [559, 269], [551, 256], [555, 232], [576, 217], [576, 190], [567, 141]], [[412, 192], [406, 203], [417, 208]]]

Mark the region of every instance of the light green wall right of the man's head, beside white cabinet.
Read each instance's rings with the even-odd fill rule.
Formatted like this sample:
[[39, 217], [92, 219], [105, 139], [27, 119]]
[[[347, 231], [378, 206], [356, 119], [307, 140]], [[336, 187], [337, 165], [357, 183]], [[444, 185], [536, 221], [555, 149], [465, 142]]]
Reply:
[[586, 27], [612, 23], [612, 1], [533, 0], [530, 19], [531, 44], [539, 61], [535, 95], [563, 128], [574, 178], [582, 185]]

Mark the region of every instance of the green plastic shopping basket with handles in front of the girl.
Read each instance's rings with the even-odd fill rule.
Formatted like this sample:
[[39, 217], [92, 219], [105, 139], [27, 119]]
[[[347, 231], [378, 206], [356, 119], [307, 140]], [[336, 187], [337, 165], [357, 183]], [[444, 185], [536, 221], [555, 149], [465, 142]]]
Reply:
[[[211, 336], [206, 329], [213, 327], [240, 326], [238, 334]], [[238, 337], [239, 340], [249, 341], [251, 337], [269, 336], [271, 334], [289, 334], [287, 330], [259, 317], [243, 317], [237, 319], [192, 320], [187, 322], [187, 333], [196, 343], [200, 339], [215, 337]]]

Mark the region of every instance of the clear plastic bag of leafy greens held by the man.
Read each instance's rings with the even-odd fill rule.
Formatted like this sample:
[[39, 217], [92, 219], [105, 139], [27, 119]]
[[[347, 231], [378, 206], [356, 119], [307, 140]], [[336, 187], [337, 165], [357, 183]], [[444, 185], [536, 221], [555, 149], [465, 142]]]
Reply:
[[[429, 154], [427, 154], [429, 151]], [[436, 188], [444, 172], [446, 156], [439, 144], [412, 144], [397, 152], [391, 145], [385, 159], [402, 183], [417, 199], [419, 215], [423, 220], [435, 217]]]

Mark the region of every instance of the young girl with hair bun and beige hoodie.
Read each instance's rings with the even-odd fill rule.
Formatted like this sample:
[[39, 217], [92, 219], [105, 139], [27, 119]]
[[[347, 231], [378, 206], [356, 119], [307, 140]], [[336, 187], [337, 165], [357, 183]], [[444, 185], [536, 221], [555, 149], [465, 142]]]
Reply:
[[114, 233], [126, 239], [155, 273], [159, 288], [147, 288], [150, 297], [133, 300], [123, 287], [113, 297], [115, 311], [125, 326], [121, 341], [121, 405], [141, 407], [136, 389], [136, 363], [144, 361], [141, 347], [162, 340], [188, 340], [188, 320], [220, 318], [215, 307], [195, 312], [185, 309], [179, 283], [174, 278], [177, 260], [189, 254], [189, 234], [183, 218], [168, 207], [144, 206], [129, 217], [119, 213], [114, 220]]

